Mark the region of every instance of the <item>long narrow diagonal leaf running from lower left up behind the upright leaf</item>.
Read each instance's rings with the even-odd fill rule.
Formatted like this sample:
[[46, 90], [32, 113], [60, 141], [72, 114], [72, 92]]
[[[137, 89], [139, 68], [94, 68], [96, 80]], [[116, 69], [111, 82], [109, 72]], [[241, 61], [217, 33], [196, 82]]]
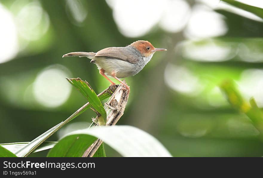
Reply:
[[[100, 100], [104, 100], [109, 98], [112, 95], [112, 91], [110, 89], [106, 89], [98, 95]], [[91, 107], [91, 104], [88, 102], [85, 105], [83, 105], [81, 108], [79, 108], [75, 113], [73, 113], [71, 116], [68, 117], [63, 122], [60, 122], [58, 125], [54, 126], [53, 128], [49, 129], [45, 133], [41, 134], [40, 136], [36, 137], [34, 140], [32, 140], [30, 143], [25, 145], [23, 148], [21, 148], [19, 151], [17, 151], [15, 154], [18, 157], [25, 157], [28, 156], [31, 152], [33, 152], [39, 145], [41, 145], [46, 139], [48, 139], [51, 135], [53, 135], [56, 131], [58, 131], [60, 128], [62, 128], [66, 123], [70, 122], [72, 119], [79, 116], [81, 113], [86, 111], [88, 108]]]

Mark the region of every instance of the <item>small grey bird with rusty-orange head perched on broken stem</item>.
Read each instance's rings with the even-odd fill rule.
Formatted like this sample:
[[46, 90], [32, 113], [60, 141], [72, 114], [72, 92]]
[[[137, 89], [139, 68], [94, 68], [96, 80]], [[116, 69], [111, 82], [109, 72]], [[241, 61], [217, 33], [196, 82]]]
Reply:
[[100, 70], [100, 74], [105, 77], [112, 85], [108, 76], [117, 79], [130, 92], [130, 87], [120, 80], [129, 76], [134, 76], [152, 59], [156, 51], [166, 51], [164, 48], [155, 48], [144, 40], [138, 40], [126, 47], [107, 47], [97, 53], [93, 52], [72, 52], [62, 57], [79, 56], [91, 59]]

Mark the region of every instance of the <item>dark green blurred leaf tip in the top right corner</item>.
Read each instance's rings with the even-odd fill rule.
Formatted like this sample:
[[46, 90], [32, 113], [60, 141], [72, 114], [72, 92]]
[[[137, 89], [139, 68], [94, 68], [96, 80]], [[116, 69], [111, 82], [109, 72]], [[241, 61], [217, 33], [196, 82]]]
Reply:
[[263, 19], [263, 9], [260, 7], [250, 6], [248, 4], [241, 3], [239, 1], [234, 0], [222, 0], [228, 4], [231, 4], [239, 9], [243, 9], [245, 11], [251, 12]]

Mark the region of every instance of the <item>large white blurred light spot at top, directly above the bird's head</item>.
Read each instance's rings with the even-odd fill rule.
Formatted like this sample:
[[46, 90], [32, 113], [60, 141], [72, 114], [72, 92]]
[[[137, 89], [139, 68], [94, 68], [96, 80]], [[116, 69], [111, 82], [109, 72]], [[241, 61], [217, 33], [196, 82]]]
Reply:
[[157, 24], [162, 17], [166, 2], [158, 0], [107, 1], [113, 8], [114, 21], [120, 32], [128, 37], [143, 36]]

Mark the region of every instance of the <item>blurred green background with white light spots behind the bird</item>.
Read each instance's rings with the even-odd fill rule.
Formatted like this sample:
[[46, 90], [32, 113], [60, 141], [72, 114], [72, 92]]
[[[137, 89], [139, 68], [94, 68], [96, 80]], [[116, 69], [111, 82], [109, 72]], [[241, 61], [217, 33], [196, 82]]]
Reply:
[[[173, 156], [262, 156], [259, 132], [218, 88], [233, 79], [263, 107], [262, 22], [219, 0], [1, 0], [0, 143], [31, 141], [87, 102], [65, 77], [97, 93], [108, 87], [89, 59], [63, 54], [148, 40], [168, 50], [126, 78], [131, 93], [118, 125], [152, 134]], [[87, 128], [92, 116], [86, 111], [48, 140]]]

